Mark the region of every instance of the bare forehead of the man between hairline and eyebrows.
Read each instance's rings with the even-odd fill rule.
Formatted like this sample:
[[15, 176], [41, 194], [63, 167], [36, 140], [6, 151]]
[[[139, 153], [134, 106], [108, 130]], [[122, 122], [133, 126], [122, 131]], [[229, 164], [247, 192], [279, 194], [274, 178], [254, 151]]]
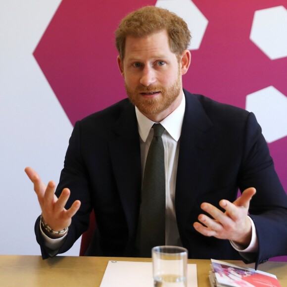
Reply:
[[144, 37], [128, 36], [125, 43], [125, 58], [145, 56], [175, 55], [169, 45], [166, 31], [160, 31]]

